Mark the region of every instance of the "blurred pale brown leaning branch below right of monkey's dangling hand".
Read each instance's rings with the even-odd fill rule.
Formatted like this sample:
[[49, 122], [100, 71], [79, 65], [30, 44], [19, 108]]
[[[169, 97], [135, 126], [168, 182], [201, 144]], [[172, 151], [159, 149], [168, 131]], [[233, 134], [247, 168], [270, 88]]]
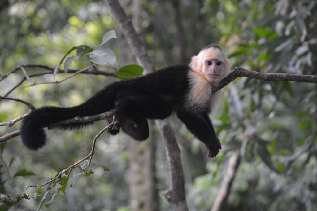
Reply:
[[227, 202], [232, 182], [236, 176], [236, 171], [240, 164], [240, 158], [240, 150], [237, 150], [230, 157], [226, 175], [223, 178], [218, 195], [216, 197], [216, 200], [214, 201], [211, 211], [221, 211], [223, 205]]

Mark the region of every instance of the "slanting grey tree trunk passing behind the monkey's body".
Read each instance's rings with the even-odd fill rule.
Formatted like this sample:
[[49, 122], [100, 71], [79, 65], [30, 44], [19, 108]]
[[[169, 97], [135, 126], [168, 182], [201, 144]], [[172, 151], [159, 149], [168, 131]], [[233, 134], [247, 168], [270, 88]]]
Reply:
[[[126, 16], [126, 13], [120, 6], [117, 0], [106, 0], [114, 18], [117, 21], [122, 33], [132, 49], [137, 62], [144, 68], [144, 74], [154, 72], [154, 64], [146, 53], [145, 47], [141, 42], [138, 34], [133, 28], [131, 20]], [[161, 135], [163, 136], [166, 148], [167, 160], [170, 167], [170, 190], [168, 191], [168, 200], [173, 210], [188, 210], [186, 205], [185, 190], [184, 190], [184, 175], [180, 158], [180, 150], [178, 148], [174, 131], [171, 128], [170, 122], [165, 120], [156, 120]]]

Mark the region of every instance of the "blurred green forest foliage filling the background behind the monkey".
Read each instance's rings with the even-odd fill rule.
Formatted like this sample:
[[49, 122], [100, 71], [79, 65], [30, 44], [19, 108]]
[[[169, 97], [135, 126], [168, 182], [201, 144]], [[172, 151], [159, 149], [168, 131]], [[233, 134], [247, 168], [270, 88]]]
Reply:
[[[158, 69], [188, 63], [202, 47], [218, 43], [233, 66], [261, 72], [316, 75], [317, 4], [314, 0], [130, 0], [122, 3], [127, 13], [138, 13], [139, 24], [135, 27]], [[117, 34], [119, 31], [104, 1], [9, 0], [0, 3], [0, 11], [0, 74], [25, 63], [55, 67], [73, 46], [97, 46], [107, 31], [114, 29]], [[117, 65], [122, 66], [126, 52], [120, 51], [119, 45], [125, 45], [130, 52], [120, 36], [107, 43], [117, 57]], [[70, 68], [89, 65], [89, 60], [83, 57], [71, 63]], [[1, 93], [22, 77], [17, 72], [0, 82]], [[45, 75], [36, 80], [52, 79], [52, 75]], [[35, 106], [73, 106], [115, 80], [78, 75], [58, 85], [28, 88], [25, 88], [28, 82], [24, 82], [10, 95]], [[182, 148], [190, 210], [210, 210], [231, 151], [236, 149], [241, 150], [242, 160], [224, 210], [317, 210], [316, 92], [316, 86], [308, 83], [235, 80], [225, 88], [221, 102], [211, 115], [223, 150], [208, 161], [204, 146], [173, 117]], [[16, 102], [1, 101], [0, 111], [0, 122], [5, 122], [28, 110]], [[49, 144], [39, 152], [26, 150], [18, 137], [10, 140], [1, 150], [0, 192], [12, 198], [21, 195], [29, 184], [47, 181], [57, 169], [87, 155], [94, 135], [104, 125], [98, 122], [80, 132], [50, 130]], [[11, 128], [0, 127], [0, 134], [12, 132], [18, 126], [17, 123]], [[154, 137], [160, 140], [158, 133]], [[97, 142], [94, 160], [109, 167], [111, 172], [97, 167], [89, 178], [76, 177], [73, 187], [66, 189], [66, 197], [57, 195], [58, 203], [51, 204], [49, 210], [129, 210], [127, 141], [123, 134], [115, 137], [103, 134]], [[23, 169], [36, 175], [6, 180], [10, 175], [4, 163], [10, 167], [10, 175]], [[164, 146], [159, 141], [156, 168], [158, 187], [164, 190], [169, 184], [168, 168]], [[143, 195], [140, 201], [144, 198]], [[15, 210], [34, 210], [40, 201], [40, 197], [23, 199], [15, 205]], [[163, 197], [161, 210], [170, 210]]]

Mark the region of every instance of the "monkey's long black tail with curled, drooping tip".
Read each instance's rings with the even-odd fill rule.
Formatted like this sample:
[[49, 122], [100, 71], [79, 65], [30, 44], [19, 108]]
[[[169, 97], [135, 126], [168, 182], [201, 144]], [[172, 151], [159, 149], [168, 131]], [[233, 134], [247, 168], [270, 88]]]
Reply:
[[[43, 147], [46, 143], [46, 134], [43, 127], [74, 118], [76, 116], [82, 117], [101, 114], [113, 109], [114, 101], [114, 90], [110, 87], [106, 87], [78, 106], [69, 108], [45, 106], [33, 110], [22, 121], [20, 128], [22, 142], [27, 148], [37, 150]], [[91, 123], [92, 122], [61, 125], [58, 126], [58, 128], [76, 129]]]

